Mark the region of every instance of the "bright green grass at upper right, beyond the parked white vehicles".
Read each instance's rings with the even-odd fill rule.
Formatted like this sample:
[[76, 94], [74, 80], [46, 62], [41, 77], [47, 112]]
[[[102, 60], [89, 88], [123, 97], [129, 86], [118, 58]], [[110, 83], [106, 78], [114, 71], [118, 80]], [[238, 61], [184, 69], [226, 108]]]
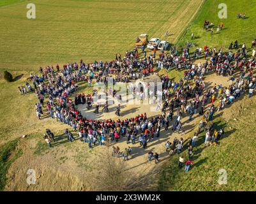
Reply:
[[[218, 18], [220, 9], [218, 5], [221, 3], [227, 4], [227, 18]], [[238, 41], [239, 45], [246, 43], [248, 48], [251, 47], [252, 40], [256, 38], [255, 23], [256, 18], [256, 3], [253, 0], [207, 0], [204, 1], [202, 9], [197, 13], [197, 16], [190, 22], [190, 25], [183, 31], [179, 38], [178, 45], [184, 46], [186, 41], [191, 41], [191, 34], [194, 33], [195, 39], [193, 42], [200, 47], [208, 45], [210, 47], [219, 48], [222, 46], [225, 49], [229, 48], [231, 42]], [[237, 19], [238, 13], [246, 13], [245, 19]], [[206, 32], [203, 29], [204, 20], [209, 20], [215, 24], [213, 36], [210, 31]], [[216, 33], [217, 27], [223, 22], [223, 30]], [[249, 50], [250, 51], [250, 50]]]

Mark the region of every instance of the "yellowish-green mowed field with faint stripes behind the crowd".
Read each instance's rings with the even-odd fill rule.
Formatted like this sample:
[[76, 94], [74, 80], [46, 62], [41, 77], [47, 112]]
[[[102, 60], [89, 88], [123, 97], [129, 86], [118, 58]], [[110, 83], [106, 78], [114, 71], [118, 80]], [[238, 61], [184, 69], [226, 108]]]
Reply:
[[0, 71], [111, 60], [141, 33], [163, 38], [169, 31], [174, 43], [202, 1], [35, 0], [36, 19], [26, 17], [31, 1], [10, 3], [0, 8]]

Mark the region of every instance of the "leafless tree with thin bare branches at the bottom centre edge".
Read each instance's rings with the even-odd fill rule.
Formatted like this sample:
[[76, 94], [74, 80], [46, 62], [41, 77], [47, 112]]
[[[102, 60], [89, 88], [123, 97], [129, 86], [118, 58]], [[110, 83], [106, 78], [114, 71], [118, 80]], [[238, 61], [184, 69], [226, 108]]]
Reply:
[[102, 147], [93, 155], [93, 168], [90, 169], [87, 182], [90, 191], [145, 191], [154, 189], [156, 174], [152, 177], [135, 171], [122, 157], [112, 156], [110, 148]]

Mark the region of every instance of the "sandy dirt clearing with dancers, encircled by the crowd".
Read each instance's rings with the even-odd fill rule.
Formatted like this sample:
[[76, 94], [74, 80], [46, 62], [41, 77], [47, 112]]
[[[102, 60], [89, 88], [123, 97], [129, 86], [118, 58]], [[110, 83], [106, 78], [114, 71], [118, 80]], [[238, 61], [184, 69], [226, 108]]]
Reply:
[[[154, 85], [156, 86], [156, 83], [162, 83], [161, 79], [157, 75], [151, 75], [149, 77], [143, 78], [142, 80], [136, 80], [135, 82], [131, 82], [130, 85], [137, 85], [139, 83], [142, 83], [143, 87], [146, 87], [146, 85], [149, 82], [154, 82]], [[152, 86], [152, 89], [154, 87]], [[100, 104], [99, 113], [94, 113], [94, 105], [91, 110], [87, 110], [87, 104], [84, 105], [78, 105], [78, 108], [82, 115], [86, 117], [86, 119], [130, 119], [132, 117], [136, 117], [139, 114], [147, 113], [147, 117], [154, 117], [156, 115], [161, 114], [161, 109], [156, 110], [156, 103], [153, 103], [153, 101], [149, 99], [144, 99], [144, 101], [140, 101], [140, 98], [136, 96], [133, 98], [132, 89], [130, 89], [129, 93], [126, 92], [126, 87], [124, 87], [123, 83], [119, 85], [114, 85], [114, 87], [111, 87], [110, 89], [114, 90], [116, 89], [118, 92], [116, 96], [119, 95], [122, 96], [122, 101], [117, 100], [117, 97], [112, 96], [105, 96], [105, 93], [98, 92], [98, 99], [94, 98], [94, 105], [96, 103]], [[144, 92], [146, 92], [146, 89], [144, 89]], [[109, 112], [105, 113], [102, 112], [103, 105], [105, 104], [106, 99], [109, 99]], [[110, 103], [111, 102], [111, 103]], [[120, 116], [117, 116], [115, 114], [117, 106], [120, 105]]]

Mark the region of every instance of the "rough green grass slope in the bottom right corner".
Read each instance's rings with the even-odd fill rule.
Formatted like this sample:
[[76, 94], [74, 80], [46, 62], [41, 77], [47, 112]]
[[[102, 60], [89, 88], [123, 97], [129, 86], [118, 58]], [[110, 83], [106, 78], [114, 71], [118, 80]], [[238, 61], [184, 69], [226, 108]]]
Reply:
[[[220, 140], [220, 145], [205, 147], [205, 134], [201, 133], [197, 141], [197, 147], [193, 150], [193, 168], [185, 172], [179, 169], [179, 157], [172, 157], [166, 164], [159, 181], [160, 191], [255, 191], [255, 163], [256, 147], [253, 126], [256, 114], [256, 98], [243, 99], [244, 108], [228, 108], [226, 112], [236, 112], [234, 118], [228, 122], [217, 113], [213, 120], [215, 128], [225, 128], [225, 135]], [[183, 153], [187, 158], [187, 150]], [[227, 171], [227, 184], [218, 184], [220, 175], [218, 171]]]

